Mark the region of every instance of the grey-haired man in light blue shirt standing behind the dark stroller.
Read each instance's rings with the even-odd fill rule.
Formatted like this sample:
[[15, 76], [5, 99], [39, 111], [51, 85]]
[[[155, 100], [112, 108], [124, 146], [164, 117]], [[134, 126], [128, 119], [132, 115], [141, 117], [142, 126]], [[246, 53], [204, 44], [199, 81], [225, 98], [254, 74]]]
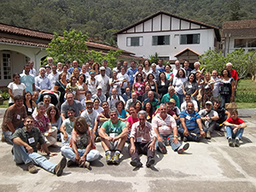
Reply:
[[39, 69], [39, 75], [35, 78], [36, 90], [50, 90], [51, 84], [49, 78], [45, 77], [45, 68]]

